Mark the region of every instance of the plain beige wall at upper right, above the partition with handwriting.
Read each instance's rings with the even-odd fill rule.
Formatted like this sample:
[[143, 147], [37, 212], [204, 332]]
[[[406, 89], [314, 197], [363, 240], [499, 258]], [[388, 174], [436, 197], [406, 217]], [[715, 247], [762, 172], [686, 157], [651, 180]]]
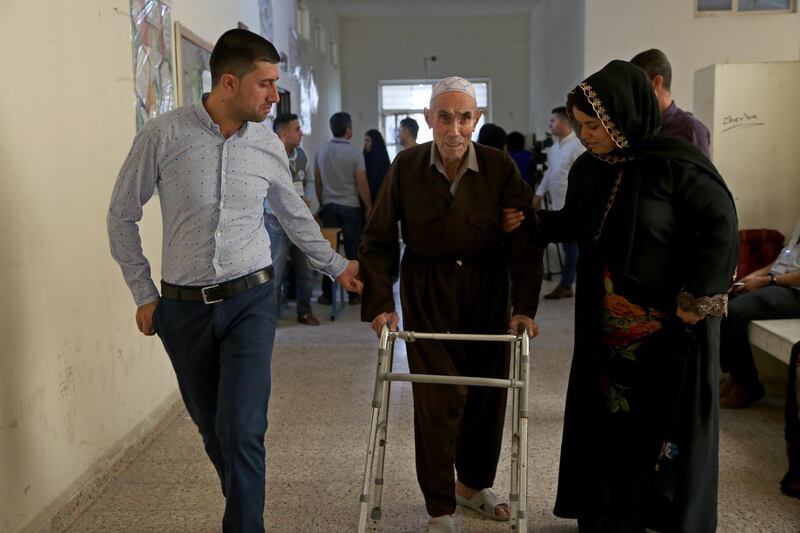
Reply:
[[672, 92], [694, 109], [694, 73], [715, 63], [800, 59], [800, 13], [695, 16], [693, 0], [586, 1], [586, 74], [612, 59], [660, 48]]

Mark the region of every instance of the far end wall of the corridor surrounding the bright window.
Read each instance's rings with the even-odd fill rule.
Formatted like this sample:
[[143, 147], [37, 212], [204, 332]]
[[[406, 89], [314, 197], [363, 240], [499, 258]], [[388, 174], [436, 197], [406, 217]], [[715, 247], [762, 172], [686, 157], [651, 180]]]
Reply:
[[[528, 130], [527, 16], [343, 18], [340, 26], [342, 105], [359, 139], [379, 125], [379, 80], [453, 75], [490, 78], [492, 122]], [[423, 58], [431, 55], [437, 61], [426, 76]]]

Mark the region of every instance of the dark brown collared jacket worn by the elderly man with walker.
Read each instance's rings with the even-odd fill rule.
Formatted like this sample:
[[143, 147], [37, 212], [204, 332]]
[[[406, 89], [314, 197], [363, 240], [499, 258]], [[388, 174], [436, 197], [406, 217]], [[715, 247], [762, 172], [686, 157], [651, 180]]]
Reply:
[[[397, 155], [367, 221], [359, 249], [362, 320], [395, 309], [398, 221], [406, 245], [401, 297], [407, 328], [410, 322], [450, 331], [507, 328], [509, 277], [513, 312], [533, 318], [542, 250], [534, 244], [532, 191], [505, 152], [475, 144], [479, 172], [467, 170], [453, 195], [450, 182], [431, 165], [432, 146]], [[505, 234], [502, 207], [528, 211], [526, 223]], [[418, 314], [430, 320], [418, 322]]]

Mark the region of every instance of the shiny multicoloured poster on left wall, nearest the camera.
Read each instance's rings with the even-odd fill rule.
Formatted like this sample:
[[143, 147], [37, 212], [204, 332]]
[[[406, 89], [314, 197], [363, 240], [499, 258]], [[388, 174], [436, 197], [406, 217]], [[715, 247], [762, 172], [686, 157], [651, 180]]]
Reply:
[[131, 0], [136, 129], [175, 107], [172, 24], [163, 0]]

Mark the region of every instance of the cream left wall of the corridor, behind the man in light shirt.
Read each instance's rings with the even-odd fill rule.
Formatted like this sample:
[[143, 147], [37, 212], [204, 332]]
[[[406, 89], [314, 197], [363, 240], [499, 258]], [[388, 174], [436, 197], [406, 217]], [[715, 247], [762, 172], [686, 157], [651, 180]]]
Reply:
[[[335, 30], [327, 2], [309, 4]], [[260, 26], [255, 0], [172, 5], [173, 22], [211, 42], [238, 21]], [[276, 20], [294, 19], [294, 2], [273, 5]], [[0, 3], [3, 532], [44, 523], [176, 397], [160, 343], [136, 331], [105, 229], [135, 133], [129, 8], [127, 0]], [[339, 77], [320, 70], [327, 113], [338, 107]], [[157, 199], [142, 236], [157, 279]]]

